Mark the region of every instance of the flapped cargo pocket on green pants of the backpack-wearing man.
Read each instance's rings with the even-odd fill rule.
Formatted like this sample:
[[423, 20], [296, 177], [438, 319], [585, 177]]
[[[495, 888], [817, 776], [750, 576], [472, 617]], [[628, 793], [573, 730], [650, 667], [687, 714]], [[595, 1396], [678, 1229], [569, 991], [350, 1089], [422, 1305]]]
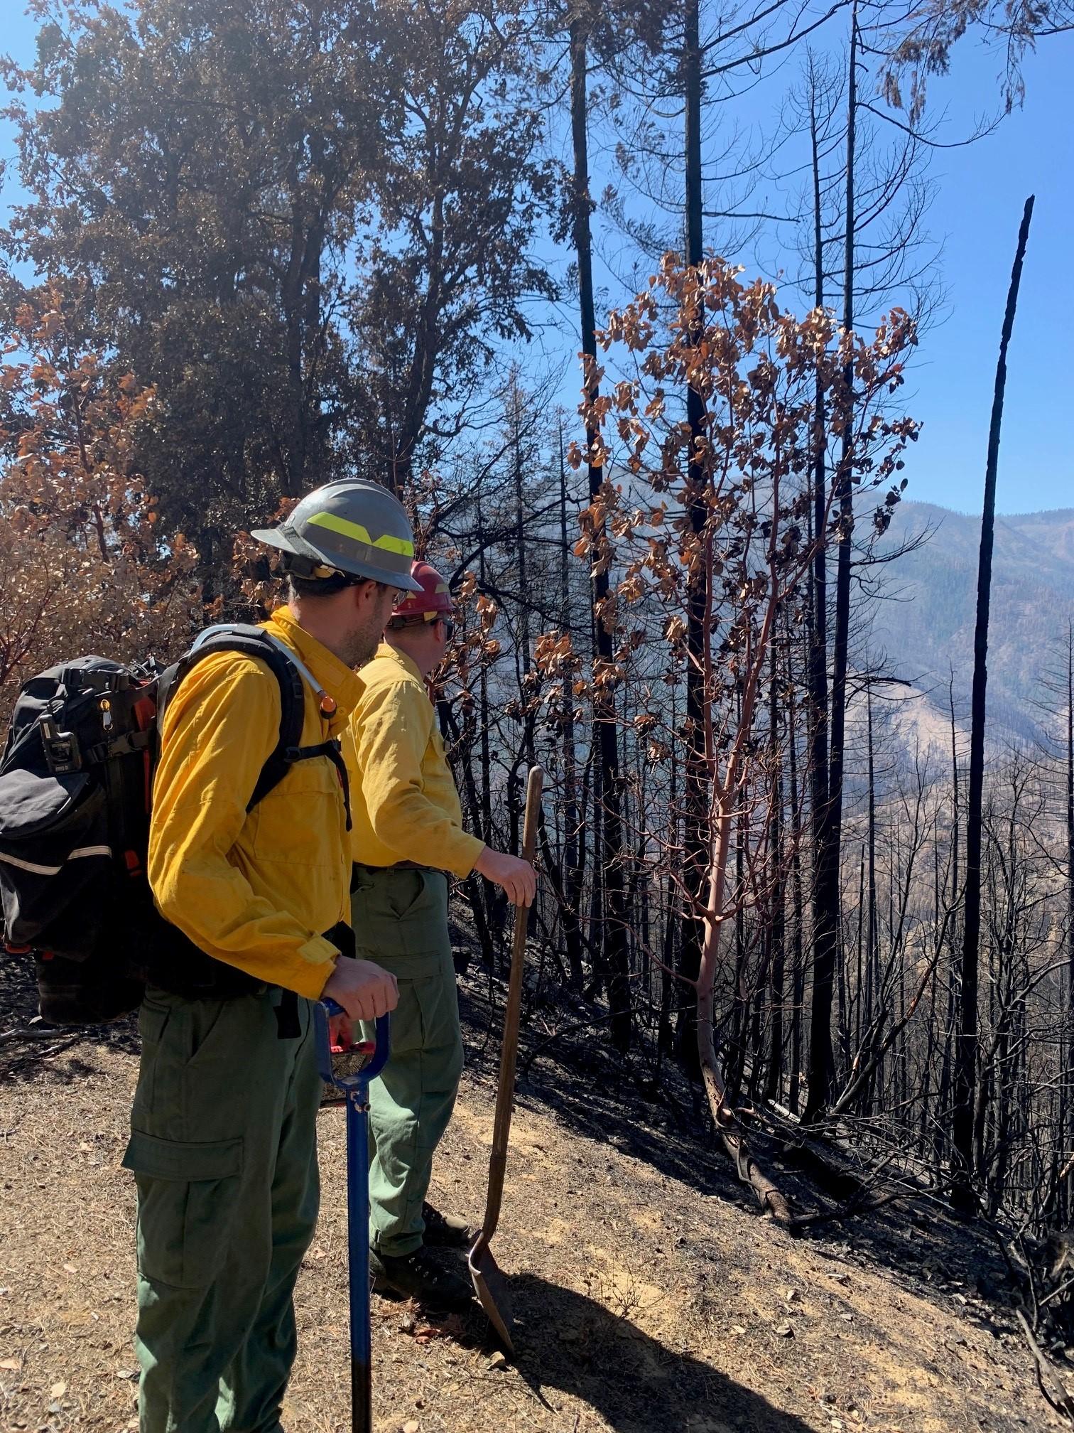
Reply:
[[238, 1205], [242, 1139], [158, 1139], [132, 1131], [123, 1155], [137, 1185], [137, 1271], [203, 1288], [223, 1262]]

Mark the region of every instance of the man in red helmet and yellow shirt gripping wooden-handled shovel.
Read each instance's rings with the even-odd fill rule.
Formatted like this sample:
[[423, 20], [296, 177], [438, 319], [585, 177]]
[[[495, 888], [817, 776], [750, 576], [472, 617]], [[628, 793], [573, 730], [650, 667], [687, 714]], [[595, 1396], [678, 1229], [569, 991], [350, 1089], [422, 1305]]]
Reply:
[[463, 830], [463, 810], [427, 682], [453, 636], [448, 585], [425, 562], [401, 602], [344, 739], [354, 792], [351, 909], [359, 954], [398, 982], [391, 1063], [369, 1091], [369, 1244], [374, 1287], [444, 1308], [471, 1297], [465, 1265], [430, 1247], [463, 1248], [470, 1231], [427, 1201], [432, 1155], [463, 1073], [447, 873], [480, 871], [516, 906], [537, 890], [528, 861]]

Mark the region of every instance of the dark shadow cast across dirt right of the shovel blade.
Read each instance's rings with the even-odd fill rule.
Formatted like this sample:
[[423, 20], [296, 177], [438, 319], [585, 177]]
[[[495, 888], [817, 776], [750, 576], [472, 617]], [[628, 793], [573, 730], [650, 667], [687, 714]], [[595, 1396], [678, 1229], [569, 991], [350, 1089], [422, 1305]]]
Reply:
[[511, 1303], [516, 1367], [553, 1409], [558, 1393], [570, 1394], [616, 1433], [809, 1433], [800, 1419], [583, 1294], [527, 1274], [511, 1280]]

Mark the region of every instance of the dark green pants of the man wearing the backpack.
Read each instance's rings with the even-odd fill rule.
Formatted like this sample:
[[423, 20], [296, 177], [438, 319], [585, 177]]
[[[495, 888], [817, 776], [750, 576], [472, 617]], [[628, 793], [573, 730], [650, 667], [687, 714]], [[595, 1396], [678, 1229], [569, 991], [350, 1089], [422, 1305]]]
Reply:
[[137, 1185], [142, 1433], [279, 1433], [319, 1199], [312, 1005], [150, 989], [123, 1165]]

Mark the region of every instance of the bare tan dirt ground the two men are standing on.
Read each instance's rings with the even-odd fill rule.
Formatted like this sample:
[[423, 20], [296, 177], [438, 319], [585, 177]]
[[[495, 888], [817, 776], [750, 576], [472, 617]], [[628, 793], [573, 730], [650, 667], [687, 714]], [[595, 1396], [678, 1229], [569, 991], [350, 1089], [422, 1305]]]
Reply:
[[[0, 992], [0, 1032], [29, 1035], [27, 995]], [[484, 992], [465, 1007], [470, 1072], [432, 1197], [478, 1221], [495, 1050]], [[119, 1168], [136, 1045], [127, 1026], [70, 1040], [0, 1043], [3, 1429], [136, 1426], [135, 1195]], [[684, 1109], [646, 1103], [591, 1039], [569, 1069], [533, 1065], [494, 1244], [517, 1360], [497, 1367], [477, 1310], [435, 1324], [374, 1298], [378, 1433], [1061, 1426], [990, 1301], [1002, 1271], [987, 1247], [932, 1212], [792, 1240]], [[321, 1115], [321, 1165], [288, 1433], [349, 1427], [341, 1109]]]

